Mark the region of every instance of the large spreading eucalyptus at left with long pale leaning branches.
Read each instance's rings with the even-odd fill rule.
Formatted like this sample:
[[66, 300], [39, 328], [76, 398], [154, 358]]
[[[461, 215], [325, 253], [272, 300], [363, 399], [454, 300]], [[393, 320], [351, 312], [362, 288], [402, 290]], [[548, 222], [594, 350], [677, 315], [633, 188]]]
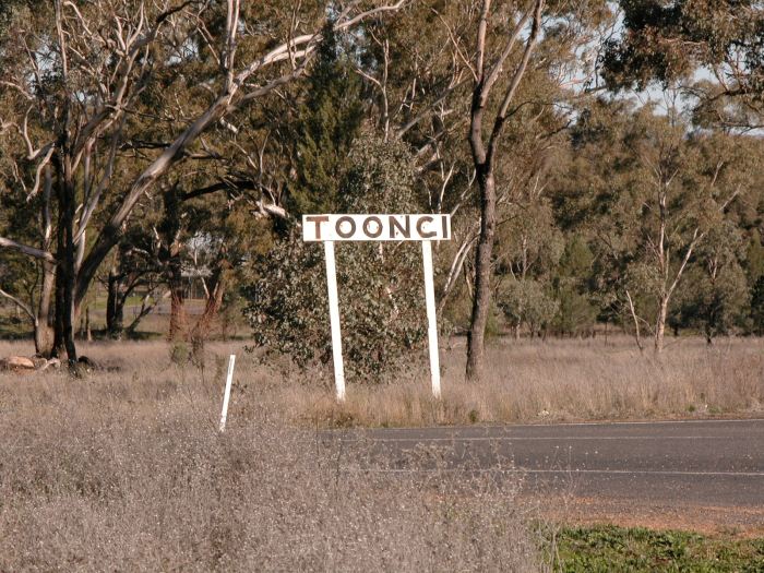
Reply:
[[[403, 4], [338, 5], [334, 28]], [[1, 126], [13, 158], [7, 181], [37, 196], [50, 166], [56, 247], [1, 237], [0, 248], [56, 265], [56, 347], [70, 363], [81, 303], [135, 205], [170, 170], [210, 155], [204, 133], [230, 129], [227, 118], [303, 74], [326, 5], [289, 13], [280, 2], [239, 0], [11, 8], [0, 50]]]

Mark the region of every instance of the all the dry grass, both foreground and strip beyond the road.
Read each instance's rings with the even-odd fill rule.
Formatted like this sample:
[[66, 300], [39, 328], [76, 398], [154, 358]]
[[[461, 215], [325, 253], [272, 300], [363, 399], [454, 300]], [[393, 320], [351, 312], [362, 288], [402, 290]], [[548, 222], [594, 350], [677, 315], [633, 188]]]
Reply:
[[[241, 343], [211, 344], [204, 370], [174, 366], [165, 343], [81, 349], [107, 369], [0, 372], [0, 571], [539, 571], [516, 478], [438, 463], [370, 473], [362, 441], [348, 451], [313, 428], [762, 415], [764, 403], [761, 339], [681, 339], [659, 359], [625, 338], [499, 343], [480, 384], [462, 381], [456, 348], [442, 401], [416, 370], [351, 383], [344, 406], [331, 371], [282, 375]], [[29, 351], [0, 342], [0, 356]], [[446, 457], [423, 454], [415, 466]]]

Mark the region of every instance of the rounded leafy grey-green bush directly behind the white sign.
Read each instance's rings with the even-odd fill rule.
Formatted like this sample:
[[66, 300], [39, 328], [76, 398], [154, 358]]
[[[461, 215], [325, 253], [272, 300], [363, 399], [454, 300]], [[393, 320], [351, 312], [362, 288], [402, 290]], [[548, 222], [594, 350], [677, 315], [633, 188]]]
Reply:
[[[355, 213], [416, 212], [414, 165], [406, 146], [373, 135], [350, 153], [339, 208]], [[291, 229], [253, 265], [244, 289], [256, 345], [299, 367], [331, 358], [324, 253]], [[402, 357], [426, 335], [419, 244], [341, 243], [337, 283], [347, 373], [381, 381], [404, 367]]]

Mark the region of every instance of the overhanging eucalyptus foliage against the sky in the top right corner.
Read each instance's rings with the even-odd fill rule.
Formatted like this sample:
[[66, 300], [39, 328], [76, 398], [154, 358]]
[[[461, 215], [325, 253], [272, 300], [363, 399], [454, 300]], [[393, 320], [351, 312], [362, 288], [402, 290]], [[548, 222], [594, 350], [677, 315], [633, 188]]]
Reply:
[[618, 3], [623, 33], [607, 43], [601, 59], [611, 88], [644, 89], [656, 81], [691, 96], [700, 123], [764, 128], [761, 2]]

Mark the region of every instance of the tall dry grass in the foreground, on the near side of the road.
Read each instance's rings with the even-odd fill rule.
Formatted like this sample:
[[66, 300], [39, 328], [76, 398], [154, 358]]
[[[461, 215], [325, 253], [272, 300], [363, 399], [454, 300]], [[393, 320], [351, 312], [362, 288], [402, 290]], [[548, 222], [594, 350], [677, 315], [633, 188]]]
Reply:
[[246, 358], [220, 434], [216, 350], [204, 374], [141, 345], [88, 348], [121, 370], [82, 380], [0, 374], [0, 571], [541, 568], [516, 482], [370, 470], [284, 422]]

